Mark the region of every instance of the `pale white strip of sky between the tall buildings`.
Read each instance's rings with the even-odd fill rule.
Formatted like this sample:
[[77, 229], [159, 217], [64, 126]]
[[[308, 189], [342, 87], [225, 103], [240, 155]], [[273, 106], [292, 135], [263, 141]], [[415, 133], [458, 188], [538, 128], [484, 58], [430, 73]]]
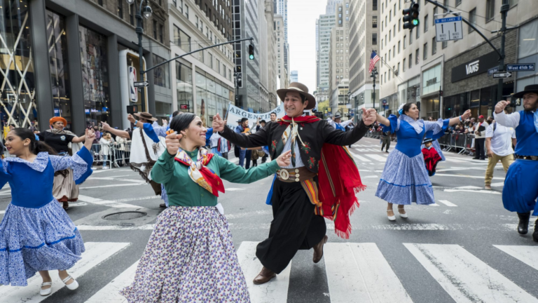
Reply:
[[326, 0], [288, 0], [290, 70], [299, 81], [316, 90], [316, 19], [325, 13]]

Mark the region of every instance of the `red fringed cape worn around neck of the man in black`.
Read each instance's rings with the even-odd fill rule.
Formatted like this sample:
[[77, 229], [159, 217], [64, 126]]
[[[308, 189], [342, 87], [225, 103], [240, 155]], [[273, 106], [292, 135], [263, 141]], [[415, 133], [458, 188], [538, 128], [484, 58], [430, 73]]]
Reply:
[[[284, 116], [280, 125], [291, 123], [313, 123], [317, 116], [298, 116], [293, 120]], [[318, 168], [318, 194], [322, 206], [316, 206], [315, 213], [334, 221], [334, 231], [340, 238], [350, 238], [350, 215], [359, 207], [357, 194], [366, 189], [362, 184], [359, 170], [346, 147], [323, 144]]]

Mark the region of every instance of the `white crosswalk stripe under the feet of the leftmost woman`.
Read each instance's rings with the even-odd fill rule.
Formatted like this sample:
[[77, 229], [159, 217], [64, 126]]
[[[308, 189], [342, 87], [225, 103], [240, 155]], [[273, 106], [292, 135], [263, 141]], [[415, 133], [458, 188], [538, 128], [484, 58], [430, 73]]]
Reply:
[[[86, 251], [82, 254], [82, 259], [76, 262], [74, 267], [67, 270], [74, 278], [83, 276], [83, 274], [88, 272], [90, 269], [97, 267], [99, 264], [109, 259], [116, 253], [119, 253], [121, 250], [127, 248], [130, 243], [86, 242], [84, 245]], [[57, 273], [51, 273], [50, 276], [53, 278], [52, 293], [55, 293], [65, 287]], [[29, 278], [27, 281], [27, 286], [1, 286], [0, 303], [36, 303], [50, 297], [43, 297], [39, 295], [39, 291], [36, 291], [39, 290], [40, 285], [43, 282], [39, 274]]]

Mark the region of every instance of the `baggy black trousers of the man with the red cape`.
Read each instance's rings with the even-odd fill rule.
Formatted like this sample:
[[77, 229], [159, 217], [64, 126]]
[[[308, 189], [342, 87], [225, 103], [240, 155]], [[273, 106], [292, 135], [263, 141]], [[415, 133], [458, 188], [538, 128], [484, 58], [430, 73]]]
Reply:
[[323, 217], [314, 214], [314, 205], [300, 182], [275, 180], [273, 222], [269, 237], [256, 247], [256, 257], [264, 267], [280, 274], [297, 253], [309, 250], [325, 236]]

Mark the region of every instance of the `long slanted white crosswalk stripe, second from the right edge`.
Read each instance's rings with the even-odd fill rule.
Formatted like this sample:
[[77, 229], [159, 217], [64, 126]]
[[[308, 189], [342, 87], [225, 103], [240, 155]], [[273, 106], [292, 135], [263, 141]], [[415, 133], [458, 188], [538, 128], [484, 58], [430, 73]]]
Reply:
[[460, 245], [403, 245], [455, 302], [538, 302]]

